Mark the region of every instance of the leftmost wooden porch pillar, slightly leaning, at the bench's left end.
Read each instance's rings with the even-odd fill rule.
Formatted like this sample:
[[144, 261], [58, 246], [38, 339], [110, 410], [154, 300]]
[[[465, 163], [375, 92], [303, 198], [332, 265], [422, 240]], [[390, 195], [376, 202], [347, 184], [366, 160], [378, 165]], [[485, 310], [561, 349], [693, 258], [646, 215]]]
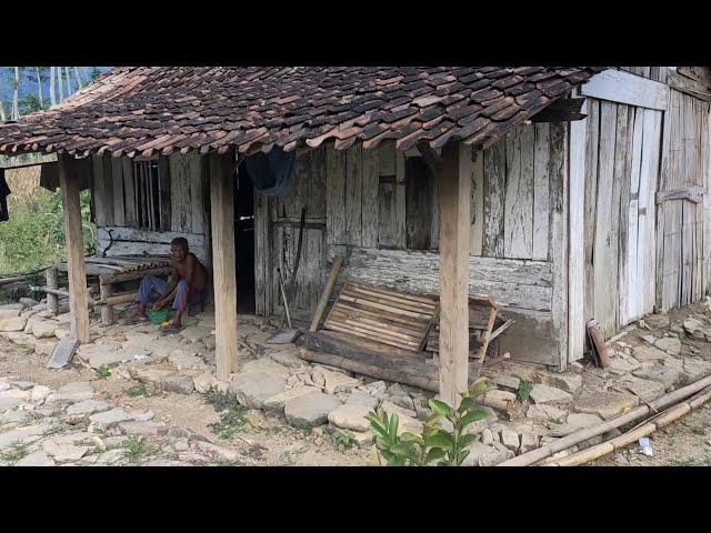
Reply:
[[67, 272], [69, 275], [69, 311], [71, 334], [79, 342], [89, 342], [89, 295], [87, 294], [87, 268], [84, 241], [81, 231], [79, 187], [83, 181], [81, 169], [71, 157], [60, 154], [59, 187], [62, 191], [64, 232], [67, 234]]

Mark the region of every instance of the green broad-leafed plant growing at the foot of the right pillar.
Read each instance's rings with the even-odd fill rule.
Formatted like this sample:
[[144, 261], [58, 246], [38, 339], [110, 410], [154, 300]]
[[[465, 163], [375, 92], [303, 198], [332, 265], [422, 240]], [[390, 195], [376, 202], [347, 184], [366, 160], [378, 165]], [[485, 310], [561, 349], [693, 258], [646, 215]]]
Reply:
[[[431, 463], [438, 465], [461, 465], [469, 446], [477, 439], [467, 433], [473, 422], [488, 416], [485, 411], [477, 409], [477, 396], [491, 389], [487, 381], [475, 383], [471, 390], [462, 393], [462, 400], [457, 409], [441, 400], [430, 400], [432, 415], [423, 424], [419, 435], [411, 432], [398, 434], [399, 416], [371, 412], [365, 418], [370, 421], [370, 431], [375, 436], [378, 457], [382, 456], [391, 466], [424, 466]], [[442, 420], [447, 420], [451, 431], [442, 428]]]

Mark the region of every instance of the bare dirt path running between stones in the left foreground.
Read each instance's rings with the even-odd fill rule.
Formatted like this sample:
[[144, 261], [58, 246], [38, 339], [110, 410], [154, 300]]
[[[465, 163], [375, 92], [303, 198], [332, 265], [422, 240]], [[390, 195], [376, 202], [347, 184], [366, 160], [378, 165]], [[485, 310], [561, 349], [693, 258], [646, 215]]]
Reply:
[[[289, 426], [282, 415], [246, 410], [239, 411], [239, 415], [229, 424], [222, 423], [214, 428], [211, 424], [220, 423], [220, 414], [208, 403], [206, 395], [150, 393], [132, 380], [100, 378], [94, 371], [79, 365], [50, 371], [44, 368], [44, 355], [0, 340], [0, 390], [2, 383], [6, 383], [6, 390], [0, 394], [13, 391], [18, 394], [23, 393], [20, 386], [29, 394], [27, 391], [31, 391], [32, 385], [13, 385], [18, 380], [46, 385], [52, 391], [66, 385], [71, 386], [77, 382], [89, 382], [94, 391], [93, 399], [107, 402], [113, 409], [132, 413], [152, 413], [152, 420], [143, 423], [146, 428], [141, 429], [139, 434], [113, 426], [106, 431], [94, 430], [96, 434], [88, 435], [87, 430], [89, 433], [92, 432], [89, 421], [82, 419], [79, 423], [76, 420], [68, 423], [67, 406], [63, 408], [63, 413], [58, 413], [57, 409], [44, 409], [47, 405], [29, 405], [27, 409], [34, 410], [37, 414], [29, 418], [30, 422], [40, 420], [41, 423], [50, 424], [52, 429], [43, 430], [47, 434], [43, 433], [40, 440], [29, 441], [28, 445], [10, 446], [10, 452], [17, 453], [8, 453], [9, 449], [6, 447], [4, 461], [0, 457], [0, 462], [4, 464], [17, 464], [33, 452], [41, 455], [41, 450], [47, 449], [48, 439], [67, 435], [79, 435], [83, 439], [81, 443], [74, 444], [86, 445], [88, 439], [91, 440], [93, 436], [98, 436], [102, 444], [110, 443], [106, 450], [93, 447], [94, 444], [91, 444], [92, 450], [83, 457], [69, 463], [77, 465], [104, 464], [102, 457], [109, 456], [112, 452], [111, 444], [117, 443], [119, 445], [116, 450], [126, 453], [113, 453], [106, 460], [108, 464], [363, 465], [370, 459], [367, 449], [353, 446], [339, 451], [333, 438], [326, 433], [323, 428], [313, 431], [298, 430]], [[7, 384], [13, 389], [7, 389]], [[11, 431], [21, 431], [30, 423], [14, 421], [18, 418], [17, 409], [12, 411], [12, 415], [11, 411], [6, 411], [2, 415], [2, 411], [0, 409], [0, 442], [3, 433], [7, 435]], [[88, 418], [91, 413], [86, 414]], [[158, 426], [163, 430], [163, 434], [143, 434], [146, 430]], [[222, 429], [220, 434], [217, 433], [219, 429]], [[96, 443], [96, 439], [92, 442]]]

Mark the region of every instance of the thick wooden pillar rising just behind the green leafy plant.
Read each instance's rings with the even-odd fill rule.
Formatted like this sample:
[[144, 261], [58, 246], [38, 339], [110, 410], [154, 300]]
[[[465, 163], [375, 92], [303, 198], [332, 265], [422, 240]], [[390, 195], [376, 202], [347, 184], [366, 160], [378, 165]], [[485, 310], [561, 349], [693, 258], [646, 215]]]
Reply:
[[[469, 158], [469, 160], [467, 159]], [[442, 149], [440, 170], [440, 398], [458, 406], [469, 362], [469, 233], [472, 149]]]

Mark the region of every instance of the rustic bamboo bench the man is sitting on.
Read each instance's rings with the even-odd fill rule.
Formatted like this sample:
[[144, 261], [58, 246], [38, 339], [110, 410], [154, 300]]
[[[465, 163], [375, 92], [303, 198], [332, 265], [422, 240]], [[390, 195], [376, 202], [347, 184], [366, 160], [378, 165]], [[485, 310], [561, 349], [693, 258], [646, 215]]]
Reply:
[[[101, 300], [101, 322], [104, 325], [113, 323], [113, 306], [119, 303], [132, 302], [137, 292], [114, 293], [114, 285], [132, 280], [140, 280], [146, 275], [168, 275], [172, 272], [170, 258], [158, 257], [132, 257], [121, 255], [111, 258], [84, 258], [87, 265], [87, 279], [99, 279], [99, 291]], [[67, 272], [67, 263], [60, 262], [46, 270], [47, 279], [47, 303], [52, 312], [59, 312], [57, 296], [64, 291], [59, 290], [59, 272]]]

